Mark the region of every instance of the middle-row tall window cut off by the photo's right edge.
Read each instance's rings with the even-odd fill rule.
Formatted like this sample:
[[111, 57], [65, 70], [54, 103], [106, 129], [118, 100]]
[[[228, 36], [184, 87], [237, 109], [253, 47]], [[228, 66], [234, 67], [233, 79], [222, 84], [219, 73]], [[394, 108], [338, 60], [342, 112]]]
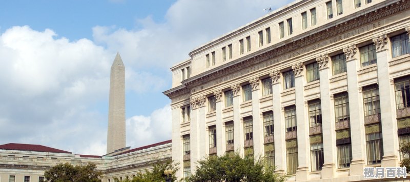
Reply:
[[410, 78], [404, 78], [395, 83], [397, 109], [410, 107]]

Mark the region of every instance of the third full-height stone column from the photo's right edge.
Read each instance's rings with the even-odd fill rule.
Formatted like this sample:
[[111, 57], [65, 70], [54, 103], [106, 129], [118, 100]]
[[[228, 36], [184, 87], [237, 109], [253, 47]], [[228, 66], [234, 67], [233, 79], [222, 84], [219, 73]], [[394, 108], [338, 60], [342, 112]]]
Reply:
[[329, 55], [321, 55], [317, 57], [316, 60], [319, 64], [320, 105], [323, 120], [322, 136], [325, 136], [323, 139], [324, 163], [322, 167], [322, 179], [326, 179], [335, 177], [337, 159], [335, 109], [329, 91], [329, 80], [332, 72], [328, 65]]

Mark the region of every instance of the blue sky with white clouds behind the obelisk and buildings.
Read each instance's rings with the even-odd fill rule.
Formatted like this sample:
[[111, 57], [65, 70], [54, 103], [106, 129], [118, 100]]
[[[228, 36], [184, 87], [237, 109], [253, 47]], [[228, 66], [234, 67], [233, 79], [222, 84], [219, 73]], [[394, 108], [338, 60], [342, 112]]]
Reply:
[[291, 1], [2, 1], [0, 144], [106, 151], [110, 66], [126, 66], [127, 146], [171, 138], [169, 68]]

